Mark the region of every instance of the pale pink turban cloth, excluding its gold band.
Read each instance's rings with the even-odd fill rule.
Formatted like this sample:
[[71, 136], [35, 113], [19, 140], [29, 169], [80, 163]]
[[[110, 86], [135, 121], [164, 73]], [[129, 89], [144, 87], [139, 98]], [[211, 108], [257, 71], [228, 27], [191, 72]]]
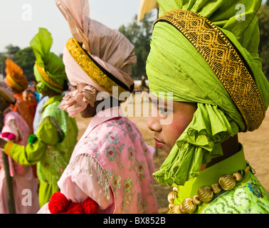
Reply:
[[[55, 2], [68, 21], [73, 38], [83, 43], [83, 48], [102, 68], [130, 88], [133, 84], [130, 64], [137, 60], [132, 43], [122, 33], [90, 19], [88, 0]], [[63, 63], [71, 85], [80, 88], [65, 95], [59, 106], [73, 117], [85, 110], [88, 104], [93, 106], [97, 93], [105, 90], [83, 71], [66, 48], [63, 50]]]

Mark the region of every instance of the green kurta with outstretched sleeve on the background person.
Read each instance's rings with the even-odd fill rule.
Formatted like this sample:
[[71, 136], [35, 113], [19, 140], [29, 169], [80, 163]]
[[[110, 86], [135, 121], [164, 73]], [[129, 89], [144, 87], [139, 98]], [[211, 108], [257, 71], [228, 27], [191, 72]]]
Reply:
[[39, 204], [42, 207], [57, 192], [57, 182], [77, 143], [78, 127], [74, 118], [58, 108], [62, 95], [50, 98], [43, 106], [41, 125], [36, 137], [26, 147], [12, 142], [6, 143], [4, 150], [21, 165], [37, 163]]

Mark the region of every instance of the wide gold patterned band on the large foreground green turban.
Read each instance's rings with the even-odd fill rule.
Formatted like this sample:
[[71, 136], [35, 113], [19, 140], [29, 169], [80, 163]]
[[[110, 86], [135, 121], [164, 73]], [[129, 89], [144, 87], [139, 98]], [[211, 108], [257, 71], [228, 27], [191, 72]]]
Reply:
[[203, 56], [240, 111], [246, 131], [257, 129], [265, 106], [248, 65], [228, 37], [211, 21], [193, 11], [173, 10], [158, 21], [175, 26]]

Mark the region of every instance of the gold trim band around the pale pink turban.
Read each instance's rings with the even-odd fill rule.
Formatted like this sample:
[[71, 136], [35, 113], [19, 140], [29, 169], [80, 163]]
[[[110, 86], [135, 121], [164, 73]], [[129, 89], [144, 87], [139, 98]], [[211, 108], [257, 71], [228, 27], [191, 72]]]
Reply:
[[88, 56], [87, 53], [81, 48], [78, 41], [74, 38], [70, 38], [65, 44], [68, 52], [78, 63], [78, 65], [83, 69], [87, 75], [93, 79], [93, 81], [104, 90], [112, 93], [113, 86], [118, 87], [119, 94], [125, 91], [129, 91], [122, 86], [119, 86], [115, 81], [112, 81], [101, 69], [93, 62], [93, 60]]

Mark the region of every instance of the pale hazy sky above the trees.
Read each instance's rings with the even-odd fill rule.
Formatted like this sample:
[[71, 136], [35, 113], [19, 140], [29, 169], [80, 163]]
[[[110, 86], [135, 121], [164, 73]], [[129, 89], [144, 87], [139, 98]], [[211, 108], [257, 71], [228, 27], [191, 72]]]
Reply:
[[[89, 4], [91, 19], [117, 29], [134, 20], [140, 0], [89, 0]], [[57, 55], [62, 53], [65, 42], [72, 36], [54, 0], [0, 1], [0, 52], [6, 51], [9, 44], [21, 49], [30, 46], [39, 27], [51, 33], [51, 51]]]

